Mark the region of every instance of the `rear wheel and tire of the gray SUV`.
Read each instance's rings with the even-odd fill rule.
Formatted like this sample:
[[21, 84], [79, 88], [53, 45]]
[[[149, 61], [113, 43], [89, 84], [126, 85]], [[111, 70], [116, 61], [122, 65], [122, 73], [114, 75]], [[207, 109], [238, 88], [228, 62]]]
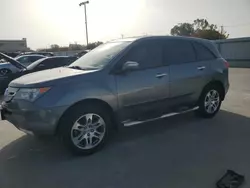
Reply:
[[209, 85], [203, 90], [199, 101], [196, 115], [203, 118], [212, 118], [220, 110], [223, 98], [222, 88], [218, 85]]

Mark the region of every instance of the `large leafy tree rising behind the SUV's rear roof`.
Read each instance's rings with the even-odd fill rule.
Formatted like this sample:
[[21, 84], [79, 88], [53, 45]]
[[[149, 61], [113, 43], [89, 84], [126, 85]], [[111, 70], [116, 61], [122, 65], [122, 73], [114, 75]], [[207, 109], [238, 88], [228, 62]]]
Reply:
[[196, 19], [191, 23], [180, 23], [175, 25], [171, 31], [174, 36], [190, 36], [209, 40], [226, 39], [226, 31], [219, 31], [217, 25], [209, 24], [206, 19]]

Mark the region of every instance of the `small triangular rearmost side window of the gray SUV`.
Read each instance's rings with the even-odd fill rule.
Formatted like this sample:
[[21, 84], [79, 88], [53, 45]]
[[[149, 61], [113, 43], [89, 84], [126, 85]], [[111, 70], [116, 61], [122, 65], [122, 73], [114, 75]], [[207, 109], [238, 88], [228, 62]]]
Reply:
[[196, 58], [198, 61], [206, 61], [206, 60], [212, 60], [216, 58], [215, 55], [203, 44], [194, 42], [193, 45], [196, 51]]

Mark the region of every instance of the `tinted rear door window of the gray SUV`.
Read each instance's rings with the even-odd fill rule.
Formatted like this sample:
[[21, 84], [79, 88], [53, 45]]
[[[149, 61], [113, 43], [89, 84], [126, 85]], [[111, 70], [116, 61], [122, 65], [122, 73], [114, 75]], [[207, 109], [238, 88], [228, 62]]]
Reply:
[[164, 43], [164, 63], [182, 64], [195, 61], [192, 44], [185, 40], [166, 40]]

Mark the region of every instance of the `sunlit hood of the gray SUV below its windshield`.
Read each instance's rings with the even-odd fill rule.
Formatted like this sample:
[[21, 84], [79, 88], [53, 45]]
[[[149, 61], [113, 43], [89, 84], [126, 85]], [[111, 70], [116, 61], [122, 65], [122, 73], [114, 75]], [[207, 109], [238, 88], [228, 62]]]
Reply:
[[96, 70], [76, 70], [68, 67], [49, 69], [31, 74], [26, 74], [13, 80], [10, 87], [47, 87], [65, 83], [78, 75], [83, 75]]

